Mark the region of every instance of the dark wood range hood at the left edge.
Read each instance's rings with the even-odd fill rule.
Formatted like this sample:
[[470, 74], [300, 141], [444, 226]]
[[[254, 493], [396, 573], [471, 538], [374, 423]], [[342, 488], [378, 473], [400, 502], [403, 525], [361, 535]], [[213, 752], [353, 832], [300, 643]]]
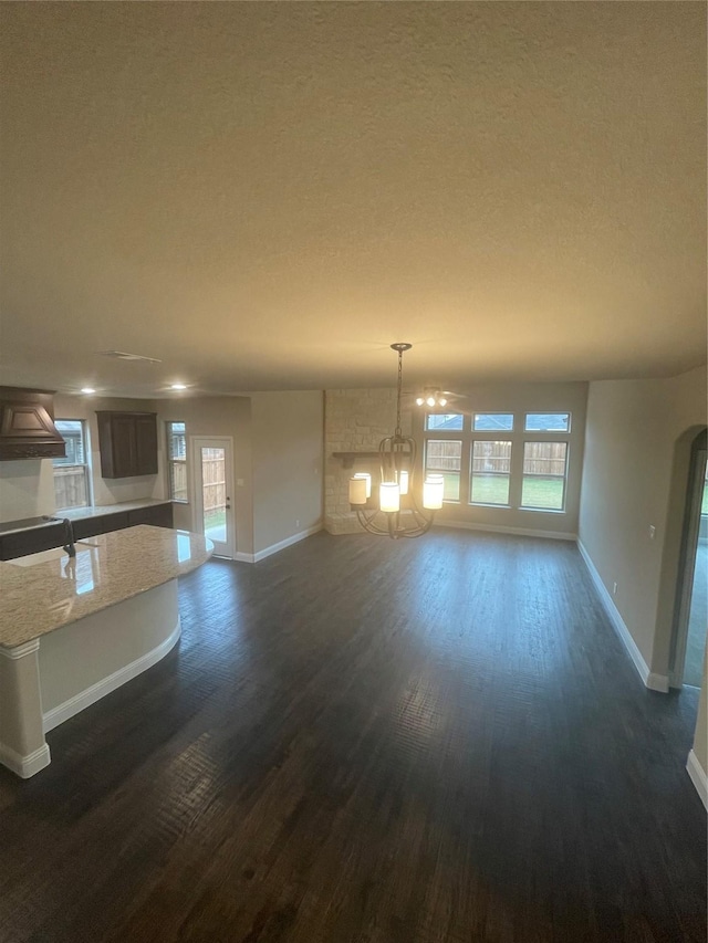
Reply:
[[65, 454], [66, 444], [54, 426], [54, 394], [0, 387], [0, 461]]

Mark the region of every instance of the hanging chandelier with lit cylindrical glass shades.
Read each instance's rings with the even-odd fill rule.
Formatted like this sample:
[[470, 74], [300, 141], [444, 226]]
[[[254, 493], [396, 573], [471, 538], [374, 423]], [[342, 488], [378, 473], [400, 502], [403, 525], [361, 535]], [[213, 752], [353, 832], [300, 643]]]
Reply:
[[428, 474], [423, 483], [421, 504], [415, 489], [416, 443], [400, 429], [403, 394], [403, 355], [412, 344], [392, 344], [398, 354], [398, 387], [396, 392], [396, 428], [378, 443], [381, 481], [378, 504], [372, 499], [372, 476], [360, 472], [350, 479], [350, 505], [358, 523], [369, 534], [384, 537], [420, 537], [433, 526], [435, 512], [442, 507], [445, 480], [441, 474]]

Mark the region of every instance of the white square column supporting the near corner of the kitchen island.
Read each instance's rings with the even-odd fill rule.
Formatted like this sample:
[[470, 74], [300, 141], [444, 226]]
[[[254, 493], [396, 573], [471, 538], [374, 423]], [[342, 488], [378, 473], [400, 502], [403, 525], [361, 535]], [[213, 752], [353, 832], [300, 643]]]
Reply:
[[44, 740], [39, 639], [0, 646], [0, 763], [28, 779], [50, 763]]

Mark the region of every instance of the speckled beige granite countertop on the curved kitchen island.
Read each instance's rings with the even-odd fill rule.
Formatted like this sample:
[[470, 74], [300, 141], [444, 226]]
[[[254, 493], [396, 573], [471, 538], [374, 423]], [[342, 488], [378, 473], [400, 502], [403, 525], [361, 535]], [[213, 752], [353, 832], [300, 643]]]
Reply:
[[139, 524], [77, 541], [73, 559], [56, 548], [0, 562], [0, 646], [15, 648], [168, 583], [212, 552], [201, 534]]

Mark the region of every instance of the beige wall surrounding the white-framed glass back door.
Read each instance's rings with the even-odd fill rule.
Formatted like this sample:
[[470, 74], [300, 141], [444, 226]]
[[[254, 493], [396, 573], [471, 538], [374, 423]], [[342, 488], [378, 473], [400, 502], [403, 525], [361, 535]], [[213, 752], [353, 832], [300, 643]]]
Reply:
[[[188, 503], [174, 502], [175, 526], [185, 531], [201, 532], [201, 522], [195, 517], [191, 497], [194, 481], [192, 454], [189, 439], [194, 436], [230, 437], [233, 439], [233, 501], [236, 512], [236, 549], [239, 554], [253, 553], [253, 472], [251, 449], [251, 401], [246, 396], [175, 397], [154, 400], [150, 410], [157, 412], [158, 467], [153, 497], [168, 494], [166, 422], [184, 422], [187, 432]], [[238, 484], [238, 482], [242, 482]]]

